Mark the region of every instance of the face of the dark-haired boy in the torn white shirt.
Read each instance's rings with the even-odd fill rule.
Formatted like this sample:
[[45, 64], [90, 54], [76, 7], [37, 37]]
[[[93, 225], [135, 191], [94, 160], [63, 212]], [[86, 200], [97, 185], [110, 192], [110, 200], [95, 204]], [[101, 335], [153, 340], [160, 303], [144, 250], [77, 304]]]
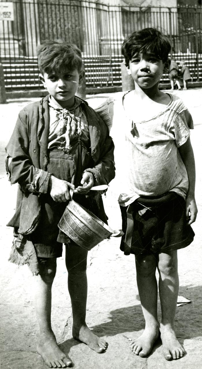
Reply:
[[141, 89], [149, 89], [158, 85], [163, 72], [169, 68], [169, 61], [163, 63], [150, 53], [134, 54], [127, 67], [128, 74]]

